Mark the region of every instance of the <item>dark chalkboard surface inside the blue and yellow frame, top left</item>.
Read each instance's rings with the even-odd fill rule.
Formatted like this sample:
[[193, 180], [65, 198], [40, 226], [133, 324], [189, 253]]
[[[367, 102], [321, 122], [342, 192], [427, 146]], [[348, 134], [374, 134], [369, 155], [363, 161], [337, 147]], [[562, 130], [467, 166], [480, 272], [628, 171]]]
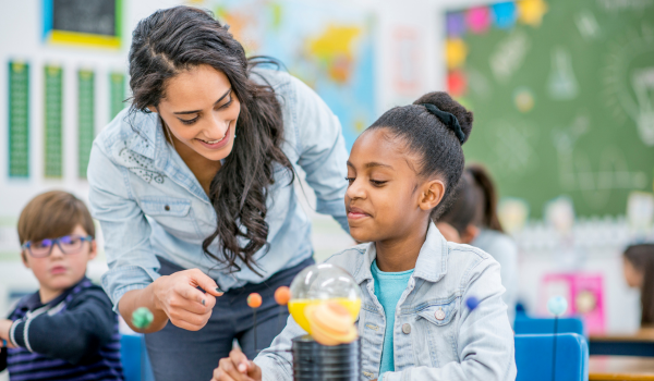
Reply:
[[114, 0], [52, 0], [52, 28], [93, 35], [116, 35]]

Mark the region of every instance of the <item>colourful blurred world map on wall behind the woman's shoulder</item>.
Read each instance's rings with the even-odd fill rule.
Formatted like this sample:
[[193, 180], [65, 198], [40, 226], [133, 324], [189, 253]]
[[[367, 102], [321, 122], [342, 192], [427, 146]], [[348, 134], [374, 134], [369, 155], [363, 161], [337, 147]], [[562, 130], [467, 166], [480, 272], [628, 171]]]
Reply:
[[[340, 120], [348, 149], [375, 120], [372, 12], [327, 2], [206, 0], [247, 56], [269, 56], [312, 87]], [[256, 10], [256, 12], [253, 12]]]

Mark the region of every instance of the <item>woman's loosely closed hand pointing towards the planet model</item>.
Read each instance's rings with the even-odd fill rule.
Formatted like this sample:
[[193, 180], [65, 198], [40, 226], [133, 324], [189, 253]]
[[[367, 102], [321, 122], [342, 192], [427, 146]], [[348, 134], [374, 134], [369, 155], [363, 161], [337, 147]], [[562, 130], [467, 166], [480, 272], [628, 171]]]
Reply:
[[[189, 331], [206, 325], [221, 296], [213, 279], [198, 269], [184, 270], [157, 279], [154, 283], [155, 306], [164, 311], [170, 322]], [[196, 287], [202, 287], [206, 294]]]

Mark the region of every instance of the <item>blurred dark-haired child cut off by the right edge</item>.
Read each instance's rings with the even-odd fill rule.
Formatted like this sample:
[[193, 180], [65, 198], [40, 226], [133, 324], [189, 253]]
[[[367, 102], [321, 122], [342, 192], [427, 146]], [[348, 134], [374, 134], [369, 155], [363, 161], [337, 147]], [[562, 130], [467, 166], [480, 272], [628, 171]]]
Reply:
[[629, 246], [623, 259], [627, 284], [641, 291], [641, 327], [654, 328], [654, 244]]

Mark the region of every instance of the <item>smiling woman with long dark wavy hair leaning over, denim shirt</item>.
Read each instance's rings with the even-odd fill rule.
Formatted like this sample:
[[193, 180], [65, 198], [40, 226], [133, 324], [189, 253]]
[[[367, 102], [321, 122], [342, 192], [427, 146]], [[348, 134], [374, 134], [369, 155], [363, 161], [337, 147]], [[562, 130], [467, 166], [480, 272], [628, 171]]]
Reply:
[[[128, 324], [135, 309], [153, 311], [145, 337], [158, 381], [208, 380], [234, 339], [250, 358], [270, 344], [286, 324], [275, 290], [313, 263], [296, 165], [317, 211], [348, 229], [341, 126], [306, 85], [246, 59], [198, 9], [142, 20], [129, 60], [132, 105], [88, 164], [102, 286]], [[264, 300], [256, 343], [251, 293]]]

